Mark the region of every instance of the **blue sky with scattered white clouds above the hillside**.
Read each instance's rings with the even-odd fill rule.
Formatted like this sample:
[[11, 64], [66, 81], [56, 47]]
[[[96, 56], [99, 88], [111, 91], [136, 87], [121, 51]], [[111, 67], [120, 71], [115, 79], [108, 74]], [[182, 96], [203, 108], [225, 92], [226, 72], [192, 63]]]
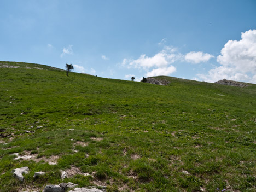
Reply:
[[0, 60], [256, 83], [256, 1], [0, 1]]

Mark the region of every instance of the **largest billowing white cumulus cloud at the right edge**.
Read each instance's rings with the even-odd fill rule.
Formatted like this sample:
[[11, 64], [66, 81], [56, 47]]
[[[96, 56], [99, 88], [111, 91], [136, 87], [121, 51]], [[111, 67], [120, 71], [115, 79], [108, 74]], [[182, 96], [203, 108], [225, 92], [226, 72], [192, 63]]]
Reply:
[[241, 40], [229, 40], [217, 57], [220, 63], [208, 71], [208, 74], [197, 74], [207, 82], [230, 79], [256, 83], [256, 30], [248, 30], [241, 35]]

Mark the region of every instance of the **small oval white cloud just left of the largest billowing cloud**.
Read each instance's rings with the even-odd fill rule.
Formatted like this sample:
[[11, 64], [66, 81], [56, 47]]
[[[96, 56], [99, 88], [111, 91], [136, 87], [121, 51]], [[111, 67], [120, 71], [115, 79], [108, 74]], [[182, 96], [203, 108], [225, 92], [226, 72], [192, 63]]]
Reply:
[[208, 53], [203, 53], [201, 51], [195, 52], [191, 51], [185, 55], [185, 61], [189, 63], [202, 63], [207, 62], [214, 56]]

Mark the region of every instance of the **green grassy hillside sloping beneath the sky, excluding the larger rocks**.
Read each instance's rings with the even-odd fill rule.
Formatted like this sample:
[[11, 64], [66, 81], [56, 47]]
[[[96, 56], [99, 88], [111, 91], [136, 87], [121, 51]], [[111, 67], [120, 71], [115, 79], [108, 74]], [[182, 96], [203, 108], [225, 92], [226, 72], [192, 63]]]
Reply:
[[107, 191], [256, 191], [256, 85], [156, 78], [171, 83], [0, 62], [1, 191], [42, 190], [61, 170]]

